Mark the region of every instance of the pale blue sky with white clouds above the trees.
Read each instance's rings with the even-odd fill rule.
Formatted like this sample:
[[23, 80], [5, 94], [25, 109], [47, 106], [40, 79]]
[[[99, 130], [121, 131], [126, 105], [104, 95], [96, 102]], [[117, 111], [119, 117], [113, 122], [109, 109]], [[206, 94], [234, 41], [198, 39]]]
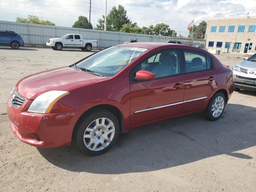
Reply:
[[[92, 0], [91, 23], [96, 27], [105, 12], [106, 0]], [[188, 36], [187, 26], [212, 17], [256, 16], [256, 0], [107, 0], [107, 13], [121, 4], [138, 26], [164, 22]], [[89, 19], [90, 0], [0, 0], [0, 20], [15, 21], [28, 14], [50, 20], [56, 26], [71, 27], [83, 15]]]

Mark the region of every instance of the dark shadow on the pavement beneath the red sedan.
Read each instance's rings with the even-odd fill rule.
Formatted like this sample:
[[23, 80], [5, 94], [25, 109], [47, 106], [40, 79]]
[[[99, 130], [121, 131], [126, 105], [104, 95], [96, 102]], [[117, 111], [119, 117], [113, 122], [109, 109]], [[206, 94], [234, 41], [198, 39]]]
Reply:
[[143, 126], [120, 134], [117, 143], [100, 156], [85, 156], [74, 146], [38, 151], [62, 169], [96, 174], [148, 172], [218, 155], [252, 159], [239, 150], [256, 145], [255, 114], [254, 107], [228, 104], [222, 118], [214, 122], [192, 114]]

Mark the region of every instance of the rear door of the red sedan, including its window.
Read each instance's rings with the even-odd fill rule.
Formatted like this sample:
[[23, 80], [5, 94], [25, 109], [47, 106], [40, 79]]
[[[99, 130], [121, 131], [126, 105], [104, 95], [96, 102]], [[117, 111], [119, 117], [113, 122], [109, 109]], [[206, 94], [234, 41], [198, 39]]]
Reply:
[[210, 56], [194, 50], [183, 50], [185, 70], [182, 114], [203, 110], [216, 88], [217, 73]]

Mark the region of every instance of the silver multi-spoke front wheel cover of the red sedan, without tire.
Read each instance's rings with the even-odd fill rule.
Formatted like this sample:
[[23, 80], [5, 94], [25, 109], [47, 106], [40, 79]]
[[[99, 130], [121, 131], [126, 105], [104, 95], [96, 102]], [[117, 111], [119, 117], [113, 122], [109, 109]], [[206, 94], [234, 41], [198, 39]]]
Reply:
[[108, 118], [97, 118], [84, 131], [84, 144], [89, 150], [100, 151], [112, 142], [114, 135], [114, 123]]

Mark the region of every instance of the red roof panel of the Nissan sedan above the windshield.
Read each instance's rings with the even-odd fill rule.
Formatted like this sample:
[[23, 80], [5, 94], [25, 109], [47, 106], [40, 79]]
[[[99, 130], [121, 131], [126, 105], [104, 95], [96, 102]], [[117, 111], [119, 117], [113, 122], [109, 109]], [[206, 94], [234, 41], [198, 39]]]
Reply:
[[175, 44], [175, 43], [164, 43], [164, 42], [136, 42], [136, 43], [129, 43], [129, 44], [119, 44], [117, 46], [141, 47], [141, 48], [149, 48], [149, 49], [154, 49], [154, 48], [158, 48], [158, 47], [170, 48], [170, 46], [172, 46], [173, 48], [191, 49], [191, 46], [188, 46], [188, 45]]

